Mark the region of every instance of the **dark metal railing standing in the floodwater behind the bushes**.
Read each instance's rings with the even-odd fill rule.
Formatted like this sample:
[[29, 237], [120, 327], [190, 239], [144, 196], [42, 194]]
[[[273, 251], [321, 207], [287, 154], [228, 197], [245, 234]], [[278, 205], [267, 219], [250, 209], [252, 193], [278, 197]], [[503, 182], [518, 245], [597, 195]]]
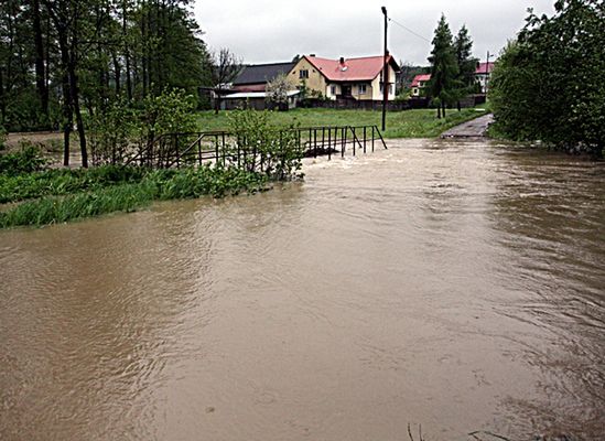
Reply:
[[[366, 153], [376, 148], [387, 149], [377, 126], [326, 126], [284, 129], [277, 132], [279, 143], [288, 143], [290, 149], [303, 157], [317, 158], [358, 152]], [[245, 136], [228, 131], [202, 131], [168, 133], [154, 138], [126, 160], [126, 164], [145, 165], [159, 169], [183, 165], [222, 164], [225, 166], [263, 161], [263, 149]]]

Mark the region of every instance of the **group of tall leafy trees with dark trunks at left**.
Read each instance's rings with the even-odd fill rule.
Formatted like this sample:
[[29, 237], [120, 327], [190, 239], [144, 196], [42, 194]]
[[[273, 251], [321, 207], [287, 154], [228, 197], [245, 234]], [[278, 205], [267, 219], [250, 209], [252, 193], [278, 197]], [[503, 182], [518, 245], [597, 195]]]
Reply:
[[[61, 129], [64, 162], [87, 121], [117, 101], [137, 108], [182, 89], [208, 105], [201, 86], [223, 75], [191, 12], [192, 0], [3, 0], [0, 2], [0, 126]], [[216, 58], [219, 58], [217, 55]]]

